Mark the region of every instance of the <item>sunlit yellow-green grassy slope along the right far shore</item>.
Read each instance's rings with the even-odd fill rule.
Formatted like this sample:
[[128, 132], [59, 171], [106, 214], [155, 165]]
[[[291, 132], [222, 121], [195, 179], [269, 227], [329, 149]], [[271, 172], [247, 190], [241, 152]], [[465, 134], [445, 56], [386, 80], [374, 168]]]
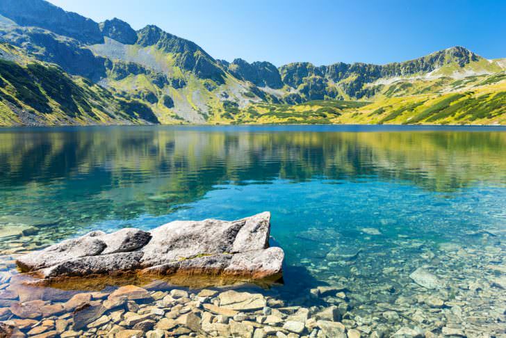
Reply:
[[[460, 90], [448, 91], [445, 87], [437, 94], [383, 94], [374, 102], [317, 100], [293, 106], [252, 104], [238, 111], [232, 123], [506, 124], [505, 72], [474, 77], [472, 81], [468, 78], [451, 81]], [[393, 84], [384, 91], [391, 94], [392, 87], [398, 86]], [[426, 86], [430, 84], [418, 83], [418, 88]]]

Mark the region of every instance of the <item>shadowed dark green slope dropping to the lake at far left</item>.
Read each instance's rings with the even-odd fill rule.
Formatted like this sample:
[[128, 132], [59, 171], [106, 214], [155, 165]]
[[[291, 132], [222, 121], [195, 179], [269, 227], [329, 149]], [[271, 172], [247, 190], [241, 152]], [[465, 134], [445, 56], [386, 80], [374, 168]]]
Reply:
[[0, 125], [135, 123], [158, 119], [145, 104], [0, 44]]

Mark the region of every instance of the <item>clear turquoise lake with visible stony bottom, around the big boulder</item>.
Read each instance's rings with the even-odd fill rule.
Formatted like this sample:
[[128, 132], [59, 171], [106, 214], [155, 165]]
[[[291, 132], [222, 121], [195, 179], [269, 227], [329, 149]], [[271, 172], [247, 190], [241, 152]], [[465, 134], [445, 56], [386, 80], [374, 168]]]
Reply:
[[[15, 282], [17, 255], [92, 230], [262, 211], [274, 284]], [[505, 250], [506, 127], [0, 129], [14, 337], [506, 337]]]

